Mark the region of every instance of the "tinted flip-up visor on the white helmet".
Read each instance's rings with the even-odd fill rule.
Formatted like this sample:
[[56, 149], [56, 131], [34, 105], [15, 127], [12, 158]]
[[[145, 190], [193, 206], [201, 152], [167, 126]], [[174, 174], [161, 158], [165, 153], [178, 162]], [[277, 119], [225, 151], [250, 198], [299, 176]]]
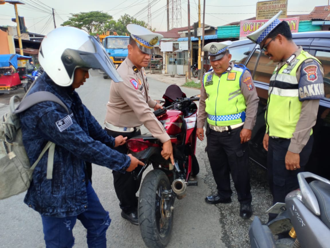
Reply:
[[122, 81], [109, 55], [93, 36], [89, 36], [89, 39], [77, 50], [65, 49], [61, 59], [71, 80], [77, 67], [86, 67], [102, 70], [114, 82]]

